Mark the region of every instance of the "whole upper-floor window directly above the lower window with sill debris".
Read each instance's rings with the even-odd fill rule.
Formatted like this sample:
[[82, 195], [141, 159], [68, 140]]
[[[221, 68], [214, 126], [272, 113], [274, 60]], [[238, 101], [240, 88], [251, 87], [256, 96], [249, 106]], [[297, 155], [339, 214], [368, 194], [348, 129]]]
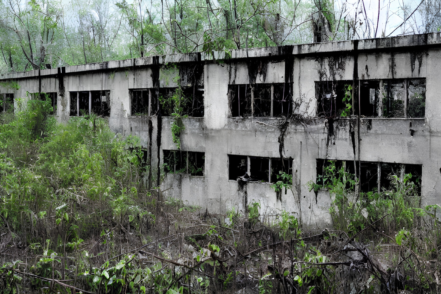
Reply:
[[228, 85], [232, 117], [287, 117], [292, 113], [292, 83]]

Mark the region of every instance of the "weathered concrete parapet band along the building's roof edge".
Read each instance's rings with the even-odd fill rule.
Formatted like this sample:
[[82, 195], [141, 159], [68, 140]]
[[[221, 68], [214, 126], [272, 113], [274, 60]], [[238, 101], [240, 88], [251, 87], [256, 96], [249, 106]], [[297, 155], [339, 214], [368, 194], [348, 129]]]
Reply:
[[[359, 51], [398, 49], [406, 47], [441, 45], [441, 33], [402, 35], [389, 38], [372, 38], [358, 40], [357, 49]], [[355, 49], [355, 41], [333, 41], [322, 43], [309, 43], [300, 45], [285, 45], [278, 47], [262, 47], [252, 49], [232, 50], [231, 57], [228, 59], [243, 59], [256, 57], [277, 57], [285, 55], [314, 55], [320, 53], [332, 52], [350, 52]], [[116, 70], [119, 68], [151, 66], [155, 64], [154, 60], [159, 60], [159, 64], [179, 63], [179, 62], [197, 62], [208, 60], [225, 59], [225, 52], [215, 51], [213, 54], [207, 53], [189, 53], [189, 54], [171, 54], [164, 56], [141, 57], [126, 60], [110, 60], [100, 63], [88, 63], [66, 66], [64, 74], [75, 74], [80, 72], [96, 72], [103, 70]], [[39, 73], [40, 72], [40, 73]], [[13, 72], [0, 75], [0, 80], [8, 79], [26, 79], [33, 77], [49, 77], [58, 73], [57, 68], [31, 70], [28, 72]]]

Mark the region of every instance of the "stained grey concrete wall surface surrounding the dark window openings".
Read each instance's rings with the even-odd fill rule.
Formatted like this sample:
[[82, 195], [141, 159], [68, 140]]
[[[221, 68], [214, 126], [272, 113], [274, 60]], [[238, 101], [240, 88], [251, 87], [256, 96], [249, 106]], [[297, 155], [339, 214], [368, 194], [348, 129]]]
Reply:
[[[143, 147], [150, 152], [151, 184], [155, 186], [157, 169], [164, 163], [161, 151], [176, 150], [171, 133], [173, 120], [132, 117], [129, 89], [154, 88], [154, 73], [158, 70], [159, 87], [176, 87], [173, 77], [179, 75], [179, 66], [200, 62], [204, 65], [205, 116], [183, 119], [181, 149], [205, 152], [204, 176], [169, 173], [161, 181], [164, 196], [221, 215], [233, 207], [244, 212], [247, 204], [259, 201], [262, 213], [272, 215], [286, 210], [301, 217], [304, 224], [322, 226], [330, 222], [329, 193], [320, 191], [316, 195], [306, 187], [316, 178], [318, 158], [420, 164], [422, 205], [440, 204], [440, 49], [440, 34], [426, 34], [236, 50], [232, 58], [222, 62], [204, 60], [200, 54], [148, 57], [42, 70], [40, 75], [38, 71], [1, 75], [1, 81], [15, 81], [20, 89], [9, 89], [4, 83], [0, 93], [14, 93], [19, 98], [26, 91], [37, 92], [39, 87], [41, 91], [60, 93], [62, 81], [65, 95], [59, 95], [56, 115], [64, 122], [69, 119], [70, 91], [110, 90], [110, 128], [123, 136], [141, 138]], [[294, 116], [289, 120], [282, 153], [293, 160], [294, 186], [280, 197], [269, 183], [240, 185], [228, 180], [228, 155], [280, 157], [280, 123], [284, 119], [231, 117], [228, 84], [247, 84], [254, 76], [254, 83], [292, 83]], [[316, 117], [318, 81], [358, 83], [359, 79], [414, 78], [426, 79], [425, 118]], [[351, 132], [355, 133], [353, 139]]]

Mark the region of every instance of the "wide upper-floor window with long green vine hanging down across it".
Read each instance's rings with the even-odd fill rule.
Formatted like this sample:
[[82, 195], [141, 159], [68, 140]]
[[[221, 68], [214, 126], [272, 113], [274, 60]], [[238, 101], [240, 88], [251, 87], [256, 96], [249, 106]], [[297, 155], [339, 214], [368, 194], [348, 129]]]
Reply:
[[130, 89], [132, 116], [162, 116], [180, 113], [189, 117], [204, 116], [204, 90], [195, 86], [181, 88]]

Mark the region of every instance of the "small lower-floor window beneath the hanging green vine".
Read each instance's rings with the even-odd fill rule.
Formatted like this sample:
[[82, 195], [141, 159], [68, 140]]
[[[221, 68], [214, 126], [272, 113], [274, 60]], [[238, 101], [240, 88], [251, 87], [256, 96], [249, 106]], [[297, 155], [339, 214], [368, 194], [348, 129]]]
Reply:
[[192, 176], [204, 175], [204, 152], [163, 150], [163, 153], [164, 171], [166, 173], [187, 173]]

